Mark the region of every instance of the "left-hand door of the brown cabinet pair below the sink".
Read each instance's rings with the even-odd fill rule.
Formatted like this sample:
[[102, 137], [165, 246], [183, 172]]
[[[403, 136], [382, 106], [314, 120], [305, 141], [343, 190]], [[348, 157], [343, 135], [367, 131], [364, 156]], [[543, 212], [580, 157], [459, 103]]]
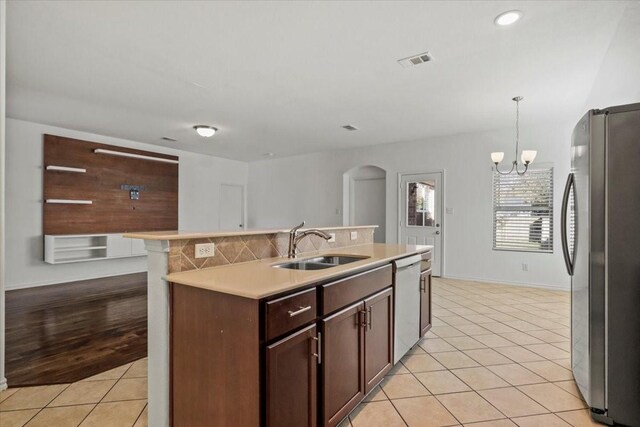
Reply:
[[336, 426], [364, 398], [364, 303], [322, 320], [322, 422]]

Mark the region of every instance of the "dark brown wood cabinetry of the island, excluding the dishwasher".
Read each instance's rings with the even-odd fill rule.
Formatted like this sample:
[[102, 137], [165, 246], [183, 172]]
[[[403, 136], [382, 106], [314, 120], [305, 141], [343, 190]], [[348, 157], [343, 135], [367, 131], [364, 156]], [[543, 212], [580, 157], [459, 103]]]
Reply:
[[391, 370], [393, 317], [391, 264], [260, 300], [172, 284], [172, 425], [335, 427]]

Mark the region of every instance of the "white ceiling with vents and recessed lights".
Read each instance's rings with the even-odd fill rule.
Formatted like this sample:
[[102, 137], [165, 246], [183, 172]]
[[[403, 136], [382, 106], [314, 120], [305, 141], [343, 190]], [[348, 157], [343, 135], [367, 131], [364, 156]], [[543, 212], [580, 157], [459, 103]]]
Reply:
[[9, 1], [8, 115], [248, 161], [568, 122], [627, 3]]

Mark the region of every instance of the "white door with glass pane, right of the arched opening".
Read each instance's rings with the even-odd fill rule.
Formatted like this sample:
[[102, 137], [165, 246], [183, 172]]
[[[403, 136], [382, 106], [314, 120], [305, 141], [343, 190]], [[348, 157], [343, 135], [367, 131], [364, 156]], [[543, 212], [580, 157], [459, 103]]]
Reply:
[[442, 272], [442, 172], [400, 176], [399, 242], [432, 245], [434, 276]]

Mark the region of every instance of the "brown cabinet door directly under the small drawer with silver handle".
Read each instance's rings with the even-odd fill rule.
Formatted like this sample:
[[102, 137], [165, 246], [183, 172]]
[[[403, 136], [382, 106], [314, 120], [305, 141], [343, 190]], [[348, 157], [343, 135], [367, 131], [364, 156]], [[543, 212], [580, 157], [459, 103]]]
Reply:
[[312, 325], [267, 347], [267, 427], [315, 427], [318, 338]]

